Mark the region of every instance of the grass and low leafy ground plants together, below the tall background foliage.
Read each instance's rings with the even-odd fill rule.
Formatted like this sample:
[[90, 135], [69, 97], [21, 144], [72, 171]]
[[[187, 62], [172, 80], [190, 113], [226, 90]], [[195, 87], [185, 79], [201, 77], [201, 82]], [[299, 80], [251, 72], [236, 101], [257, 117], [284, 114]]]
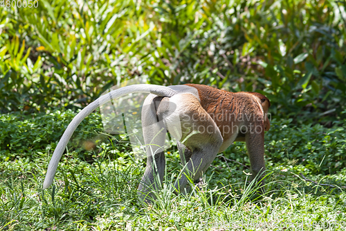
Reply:
[[[244, 143], [237, 142], [219, 155], [206, 172], [203, 190], [186, 196], [172, 194], [181, 169], [179, 153], [172, 148], [167, 151], [165, 185], [156, 204], [148, 207], [140, 205], [136, 191], [145, 160], [131, 157], [131, 147], [122, 142], [125, 136], [96, 135], [102, 124], [98, 112], [75, 132], [53, 187], [42, 191], [49, 156], [74, 115], [71, 110], [34, 118], [1, 114], [0, 229], [346, 227], [345, 121], [335, 129], [295, 128], [291, 119], [272, 121], [266, 132], [267, 194], [253, 203], [246, 184], [249, 161]], [[82, 146], [85, 142], [95, 146]], [[301, 173], [316, 183], [305, 181]]]

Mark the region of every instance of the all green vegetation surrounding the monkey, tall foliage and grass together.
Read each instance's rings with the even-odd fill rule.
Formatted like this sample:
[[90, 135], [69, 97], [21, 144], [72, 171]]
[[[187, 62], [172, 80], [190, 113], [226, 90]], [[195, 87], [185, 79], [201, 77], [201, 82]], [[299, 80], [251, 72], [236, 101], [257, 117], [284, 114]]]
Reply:
[[[345, 1], [37, 2], [0, 10], [0, 230], [345, 230]], [[143, 205], [145, 160], [98, 112], [42, 190], [78, 108], [129, 79], [265, 94], [266, 194], [255, 197], [240, 142], [201, 190], [173, 194], [172, 146], [158, 200]]]

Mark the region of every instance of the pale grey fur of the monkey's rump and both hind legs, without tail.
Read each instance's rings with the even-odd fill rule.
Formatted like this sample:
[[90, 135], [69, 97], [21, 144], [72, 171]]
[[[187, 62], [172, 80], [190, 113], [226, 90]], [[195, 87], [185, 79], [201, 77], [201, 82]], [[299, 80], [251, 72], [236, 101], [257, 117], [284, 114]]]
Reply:
[[[170, 98], [158, 99], [156, 96], [149, 95], [145, 99], [145, 105], [151, 105], [142, 112], [143, 135], [145, 135], [147, 145], [147, 168], [138, 191], [140, 198], [147, 202], [155, 199], [152, 191], [160, 189], [163, 180], [165, 153], [162, 147], [167, 130], [178, 142], [181, 162], [184, 165], [183, 174], [174, 185], [176, 192], [184, 193], [185, 189], [189, 190], [188, 178], [194, 181], [199, 180], [201, 173], [205, 172], [215, 159], [223, 142], [215, 121], [201, 108], [199, 97], [194, 94], [195, 88], [189, 88], [188, 86], [176, 86], [173, 89], [179, 89], [179, 94]], [[211, 126], [212, 130], [215, 130], [214, 133], [185, 129], [200, 124], [198, 120], [184, 120], [187, 114], [195, 113], [194, 108], [196, 107], [208, 117], [208, 122], [205, 124]]]

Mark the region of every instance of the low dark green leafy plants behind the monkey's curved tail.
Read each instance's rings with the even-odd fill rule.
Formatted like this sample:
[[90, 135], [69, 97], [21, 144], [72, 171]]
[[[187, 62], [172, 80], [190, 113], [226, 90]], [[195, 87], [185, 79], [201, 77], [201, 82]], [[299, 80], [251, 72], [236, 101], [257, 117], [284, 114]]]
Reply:
[[[22, 113], [0, 114], [0, 155], [3, 159], [28, 157], [36, 153], [54, 151], [62, 133], [75, 117], [75, 112], [56, 110], [49, 114]], [[95, 137], [102, 130], [99, 114], [91, 114], [77, 128], [69, 148], [80, 147], [81, 143]], [[80, 150], [81, 151], [81, 150]]]

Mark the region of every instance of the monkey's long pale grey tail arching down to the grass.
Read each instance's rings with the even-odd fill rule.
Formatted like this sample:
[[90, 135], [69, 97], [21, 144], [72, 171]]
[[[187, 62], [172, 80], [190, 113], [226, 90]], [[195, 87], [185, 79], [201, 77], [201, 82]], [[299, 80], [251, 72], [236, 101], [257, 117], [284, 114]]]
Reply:
[[159, 85], [146, 85], [146, 84], [138, 84], [138, 85], [130, 85], [126, 87], [121, 87], [120, 89], [113, 90], [108, 94], [101, 96], [100, 98], [93, 101], [87, 105], [83, 110], [78, 113], [75, 118], [71, 121], [69, 126], [66, 128], [64, 135], [60, 139], [60, 142], [57, 144], [57, 148], [53, 153], [51, 162], [49, 162], [48, 170], [46, 173], [46, 178], [44, 179], [43, 189], [48, 188], [52, 185], [53, 179], [55, 176], [55, 171], [57, 171], [57, 164], [59, 164], [60, 158], [62, 157], [62, 153], [66, 148], [69, 139], [71, 138], [75, 128], [82, 122], [82, 120], [87, 117], [93, 110], [100, 107], [100, 105], [111, 101], [111, 99], [117, 99], [121, 96], [131, 93], [151, 93], [156, 94], [157, 96], [173, 96], [176, 92], [169, 87], [163, 87]]

